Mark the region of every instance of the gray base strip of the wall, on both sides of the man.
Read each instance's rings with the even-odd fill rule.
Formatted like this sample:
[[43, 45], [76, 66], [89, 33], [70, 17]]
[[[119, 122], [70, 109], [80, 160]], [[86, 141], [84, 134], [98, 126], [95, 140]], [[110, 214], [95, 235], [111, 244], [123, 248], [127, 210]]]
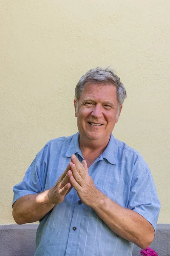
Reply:
[[[36, 224], [0, 226], [0, 256], [34, 256], [37, 227]], [[170, 224], [157, 225], [150, 247], [159, 256], [170, 256]], [[135, 245], [133, 256], [140, 256], [140, 250]]]

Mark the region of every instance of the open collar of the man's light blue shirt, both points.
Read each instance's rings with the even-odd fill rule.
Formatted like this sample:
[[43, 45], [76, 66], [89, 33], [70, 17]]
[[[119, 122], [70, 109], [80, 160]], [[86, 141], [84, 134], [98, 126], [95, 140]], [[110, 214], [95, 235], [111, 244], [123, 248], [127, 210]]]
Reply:
[[[116, 164], [117, 151], [118, 151], [118, 145], [117, 145], [116, 139], [113, 136], [113, 134], [111, 134], [109, 143], [108, 143], [105, 151], [102, 153], [102, 157], [107, 159], [109, 163]], [[79, 148], [79, 132], [77, 132], [77, 134], [73, 135], [71, 143], [68, 147], [68, 150], [67, 150], [65, 156], [71, 157], [71, 155], [75, 154], [75, 153], [82, 155], [82, 152]]]

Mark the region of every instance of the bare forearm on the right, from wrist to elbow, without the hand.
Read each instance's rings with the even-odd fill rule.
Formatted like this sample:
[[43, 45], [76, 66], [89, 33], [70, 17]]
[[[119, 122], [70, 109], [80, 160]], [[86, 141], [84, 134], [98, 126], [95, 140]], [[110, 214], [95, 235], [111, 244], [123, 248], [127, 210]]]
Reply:
[[99, 190], [97, 197], [91, 207], [113, 232], [141, 248], [149, 246], [154, 238], [154, 229], [146, 219], [116, 204]]

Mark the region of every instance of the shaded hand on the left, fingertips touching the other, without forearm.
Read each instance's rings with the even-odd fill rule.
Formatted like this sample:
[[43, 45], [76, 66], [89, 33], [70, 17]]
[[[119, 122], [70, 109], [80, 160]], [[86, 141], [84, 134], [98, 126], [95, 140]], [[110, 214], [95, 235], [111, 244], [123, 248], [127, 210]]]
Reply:
[[73, 186], [69, 182], [69, 177], [72, 175], [72, 172], [70, 171], [72, 164], [72, 162], [68, 164], [67, 168], [59, 177], [54, 187], [48, 190], [48, 198], [51, 204], [61, 204], [65, 198], [65, 195], [71, 191]]

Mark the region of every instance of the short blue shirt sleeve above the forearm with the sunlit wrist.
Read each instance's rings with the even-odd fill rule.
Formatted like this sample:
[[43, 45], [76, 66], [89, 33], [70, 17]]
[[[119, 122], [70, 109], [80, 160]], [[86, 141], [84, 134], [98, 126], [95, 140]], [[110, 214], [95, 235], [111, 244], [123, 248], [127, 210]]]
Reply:
[[14, 199], [12, 205], [24, 195], [37, 194], [42, 191], [42, 174], [40, 168], [40, 152], [29, 166], [23, 181], [13, 187]]

